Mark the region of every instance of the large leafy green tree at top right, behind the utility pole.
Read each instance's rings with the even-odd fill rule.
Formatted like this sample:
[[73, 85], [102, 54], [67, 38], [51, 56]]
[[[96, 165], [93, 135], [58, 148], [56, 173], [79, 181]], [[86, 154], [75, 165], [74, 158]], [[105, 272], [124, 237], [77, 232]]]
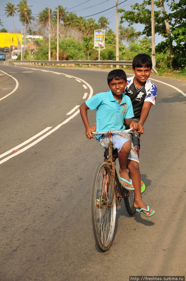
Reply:
[[[168, 2], [168, 6], [171, 9], [170, 13], [165, 11], [164, 2]], [[165, 41], [160, 43], [157, 50], [166, 51], [169, 48], [170, 60], [172, 61], [172, 67], [176, 68], [178, 66], [177, 61], [179, 60], [179, 49], [185, 48], [184, 45], [184, 34], [183, 26], [185, 19], [185, 6], [184, 0], [178, 1], [172, 0], [171, 3], [168, 0], [155, 1], [155, 5], [158, 10], [155, 10], [155, 33], [160, 34], [165, 38]], [[126, 21], [131, 26], [133, 23], [144, 24], [144, 29], [142, 32], [138, 32], [138, 35], [144, 34], [147, 37], [151, 36], [151, 1], [145, 0], [142, 4], [136, 3], [131, 5], [130, 11], [125, 11], [124, 9], [119, 9], [122, 13], [121, 23]], [[181, 40], [179, 39], [181, 38]], [[176, 45], [173, 44], [176, 42]], [[180, 43], [181, 42], [181, 43]], [[166, 50], [165, 50], [166, 47]]]

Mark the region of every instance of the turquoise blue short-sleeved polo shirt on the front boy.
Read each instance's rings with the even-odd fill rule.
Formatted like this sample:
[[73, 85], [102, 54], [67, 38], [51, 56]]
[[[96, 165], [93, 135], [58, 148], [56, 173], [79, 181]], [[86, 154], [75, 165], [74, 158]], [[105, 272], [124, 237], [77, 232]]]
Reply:
[[[131, 99], [122, 93], [122, 101], [113, 97], [112, 91], [98, 93], [88, 99], [86, 105], [91, 110], [96, 110], [96, 131], [124, 130], [124, 119], [134, 117]], [[98, 139], [99, 136], [96, 136]]]

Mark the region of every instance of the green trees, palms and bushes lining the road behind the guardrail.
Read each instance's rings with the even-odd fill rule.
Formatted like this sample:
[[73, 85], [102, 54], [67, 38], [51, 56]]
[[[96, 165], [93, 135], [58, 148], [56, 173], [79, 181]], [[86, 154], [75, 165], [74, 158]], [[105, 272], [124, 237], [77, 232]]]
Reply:
[[[164, 4], [169, 6], [169, 13], [165, 11]], [[119, 58], [120, 60], [132, 60], [138, 53], [151, 55], [151, 0], [145, 0], [142, 4], [131, 5], [130, 11], [120, 9], [121, 22], [119, 26]], [[156, 69], [160, 75], [174, 73], [185, 76], [186, 70], [186, 33], [185, 33], [185, 6], [184, 0], [158, 0], [155, 1], [155, 33], [164, 39], [156, 46]], [[115, 60], [116, 58], [116, 34], [109, 28], [108, 18], [102, 16], [98, 22], [93, 18], [80, 18], [75, 13], [68, 13], [62, 5], [54, 11], [43, 9], [36, 18], [32, 16], [31, 6], [26, 0], [21, 0], [15, 7], [7, 3], [5, 13], [12, 17], [19, 14], [20, 21], [25, 26], [24, 42], [27, 34], [36, 34], [43, 37], [42, 40], [32, 41], [35, 45], [35, 53], [28, 50], [24, 59], [48, 60], [49, 38], [50, 59], [56, 60], [57, 38], [57, 8], [59, 9], [59, 60], [97, 60], [98, 51], [93, 49], [94, 30], [104, 29], [105, 47], [100, 52], [100, 60]], [[123, 23], [128, 23], [124, 27]], [[137, 32], [133, 24], [143, 24], [144, 30]], [[0, 25], [2, 22], [0, 20]], [[19, 59], [19, 57], [18, 57]]]

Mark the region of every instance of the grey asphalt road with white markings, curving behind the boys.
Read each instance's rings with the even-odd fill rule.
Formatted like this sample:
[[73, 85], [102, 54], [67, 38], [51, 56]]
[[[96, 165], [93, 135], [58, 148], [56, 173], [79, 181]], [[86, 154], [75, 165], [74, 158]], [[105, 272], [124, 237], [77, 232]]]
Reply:
[[122, 202], [112, 247], [101, 253], [95, 245], [89, 198], [103, 149], [86, 139], [78, 106], [106, 91], [106, 78], [0, 62], [1, 281], [185, 275], [186, 96], [169, 86], [185, 91], [184, 82], [151, 75], [158, 96], [141, 137], [140, 170], [155, 215], [129, 216]]

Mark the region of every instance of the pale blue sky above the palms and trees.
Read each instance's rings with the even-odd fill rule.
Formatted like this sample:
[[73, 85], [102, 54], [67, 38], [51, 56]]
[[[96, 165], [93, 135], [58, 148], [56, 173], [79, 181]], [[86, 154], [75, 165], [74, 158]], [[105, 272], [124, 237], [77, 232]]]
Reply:
[[[20, 0], [0, 0], [0, 19], [3, 24], [3, 26], [0, 26], [1, 28], [6, 28], [8, 32], [14, 32], [13, 23], [12, 23], [12, 17], [8, 17], [5, 15], [4, 8], [6, 4], [10, 2], [12, 4], [17, 4], [20, 2]], [[104, 3], [103, 3], [104, 2]], [[123, 0], [118, 0], [118, 8], [124, 8], [125, 10], [130, 10], [131, 5], [138, 2], [142, 3], [143, 0], [126, 0], [124, 3], [122, 3]], [[121, 3], [121, 4], [120, 4]], [[78, 17], [87, 17], [88, 18], [94, 18], [96, 22], [98, 22], [98, 19], [101, 16], [104, 16], [108, 18], [109, 28], [112, 28], [114, 32], [116, 32], [116, 8], [112, 8], [108, 11], [102, 12], [108, 8], [111, 8], [116, 5], [116, 0], [27, 0], [27, 5], [32, 6], [32, 15], [34, 17], [37, 17], [38, 13], [41, 12], [46, 7], [50, 8], [52, 11], [55, 10], [55, 8], [58, 5], [62, 5], [64, 8], [66, 8], [66, 11], [76, 13]], [[75, 7], [76, 6], [76, 7]], [[94, 7], [92, 7], [94, 6]], [[97, 15], [93, 15], [99, 13]], [[93, 15], [93, 16], [92, 16]], [[122, 14], [119, 13], [119, 17]], [[87, 18], [86, 18], [87, 19]], [[17, 32], [21, 32], [21, 23], [19, 21], [19, 15], [14, 16], [15, 26]], [[127, 27], [127, 23], [122, 24], [125, 28]], [[143, 26], [141, 24], [134, 24], [133, 27], [136, 29], [136, 31], [142, 31]], [[160, 43], [162, 41], [162, 37], [160, 35], [155, 34], [155, 45]]]

